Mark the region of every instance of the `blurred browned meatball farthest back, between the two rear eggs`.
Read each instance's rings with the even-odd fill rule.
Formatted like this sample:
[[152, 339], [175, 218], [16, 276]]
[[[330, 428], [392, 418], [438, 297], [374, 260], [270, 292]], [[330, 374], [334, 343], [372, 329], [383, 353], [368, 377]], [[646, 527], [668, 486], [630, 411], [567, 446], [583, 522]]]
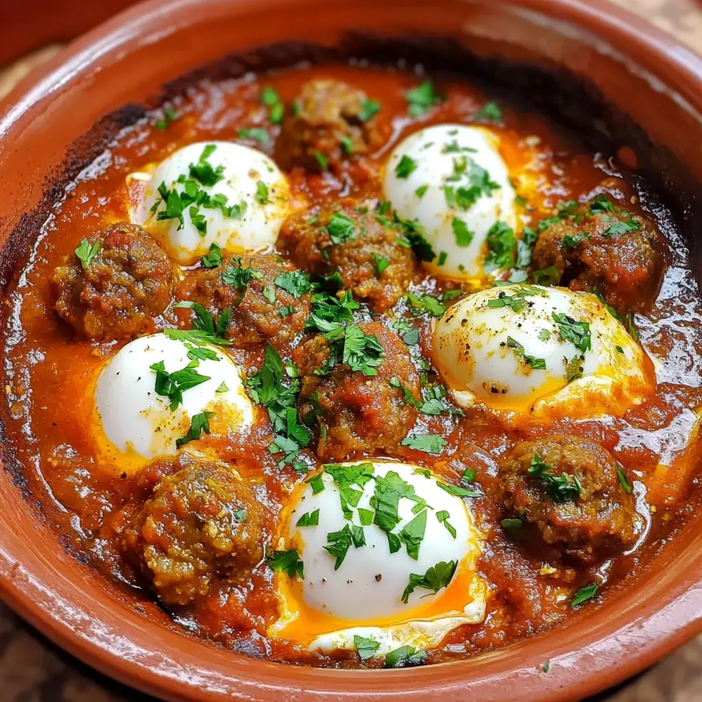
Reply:
[[303, 85], [283, 121], [275, 157], [289, 169], [336, 168], [350, 154], [365, 154], [383, 143], [365, 93], [343, 81], [314, 79]]

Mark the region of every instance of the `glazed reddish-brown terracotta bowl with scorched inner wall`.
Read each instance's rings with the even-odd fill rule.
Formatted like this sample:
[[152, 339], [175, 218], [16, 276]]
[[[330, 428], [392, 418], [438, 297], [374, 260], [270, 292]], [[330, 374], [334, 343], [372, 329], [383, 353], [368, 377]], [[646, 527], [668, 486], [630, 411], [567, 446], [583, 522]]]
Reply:
[[[702, 182], [702, 61], [621, 11], [592, 0], [155, 0], [69, 46], [0, 107], [2, 282], [37, 236], [57, 184], [140, 114], [125, 105], [153, 104], [164, 84], [176, 91], [182, 84], [171, 81], [227, 53], [234, 53], [227, 71], [240, 72], [256, 67], [260, 46], [288, 42], [267, 52], [280, 60], [305, 42], [333, 51], [350, 29], [357, 30], [353, 41], [383, 37], [389, 57], [402, 51], [417, 60], [429, 51], [439, 65], [517, 82], [593, 145], [604, 140], [621, 158], [637, 159], [670, 200], [693, 260], [701, 260], [694, 213]], [[2, 597], [67, 651], [169, 700], [575, 699], [702, 630], [696, 510], [651, 566], [601, 607], [508, 649], [409, 670], [254, 660], [190, 637], [154, 604], [81, 563], [42, 517], [41, 496], [23, 489], [12, 446], [0, 442], [0, 458]]]

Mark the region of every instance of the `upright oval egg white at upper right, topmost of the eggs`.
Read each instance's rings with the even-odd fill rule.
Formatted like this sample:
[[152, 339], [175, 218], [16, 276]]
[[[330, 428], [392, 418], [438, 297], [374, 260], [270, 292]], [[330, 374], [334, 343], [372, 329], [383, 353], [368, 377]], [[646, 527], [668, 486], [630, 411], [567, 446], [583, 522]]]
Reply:
[[[498, 136], [486, 128], [437, 124], [413, 133], [390, 154], [383, 176], [385, 198], [402, 219], [416, 220], [423, 227], [436, 254], [425, 263], [432, 274], [461, 281], [483, 278], [490, 228], [498, 221], [512, 229], [517, 225], [515, 190], [499, 145]], [[400, 177], [402, 170], [398, 174], [403, 157], [416, 164], [406, 178]], [[446, 196], [446, 187], [454, 193], [459, 187], [470, 188], [472, 164], [484, 168], [497, 187], [464, 209], [455, 197]], [[455, 219], [472, 232], [470, 244], [459, 242]]]

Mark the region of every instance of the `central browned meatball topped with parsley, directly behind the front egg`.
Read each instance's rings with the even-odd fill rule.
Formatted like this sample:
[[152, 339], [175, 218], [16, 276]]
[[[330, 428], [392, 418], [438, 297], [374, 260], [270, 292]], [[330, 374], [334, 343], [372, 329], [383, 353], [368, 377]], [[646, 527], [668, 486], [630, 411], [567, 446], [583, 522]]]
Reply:
[[[302, 379], [300, 416], [307, 423], [314, 421], [317, 456], [323, 460], [395, 451], [416, 419], [416, 410], [397, 387], [402, 384], [419, 397], [419, 378], [399, 336], [378, 322], [354, 324], [345, 335], [357, 337], [354, 346], [364, 345], [360, 362], [352, 358], [343, 363], [346, 338], [330, 342], [315, 336], [294, 355]], [[378, 363], [380, 349], [380, 362], [372, 365]], [[353, 369], [368, 359], [366, 370], [377, 375]]]

